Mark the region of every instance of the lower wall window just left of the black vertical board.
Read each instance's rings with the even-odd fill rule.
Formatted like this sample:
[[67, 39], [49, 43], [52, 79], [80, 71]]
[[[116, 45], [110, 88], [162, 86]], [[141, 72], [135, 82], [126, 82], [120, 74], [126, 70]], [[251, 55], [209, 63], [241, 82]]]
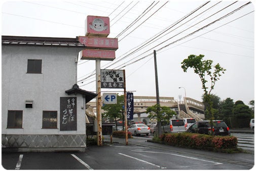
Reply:
[[43, 111], [43, 129], [57, 129], [57, 111]]

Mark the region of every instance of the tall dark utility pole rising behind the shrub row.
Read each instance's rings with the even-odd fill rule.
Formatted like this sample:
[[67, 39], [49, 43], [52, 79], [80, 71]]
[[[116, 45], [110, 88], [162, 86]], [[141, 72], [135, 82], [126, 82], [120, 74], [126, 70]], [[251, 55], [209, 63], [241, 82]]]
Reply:
[[[157, 118], [159, 119], [160, 100], [159, 100], [159, 88], [158, 88], [157, 54], [156, 54], [156, 50], [154, 50], [154, 62], [155, 62], [156, 94], [157, 94], [157, 105], [158, 105], [158, 107], [157, 107]], [[158, 136], [161, 136], [162, 135], [161, 121], [158, 120], [157, 125], [158, 125]]]

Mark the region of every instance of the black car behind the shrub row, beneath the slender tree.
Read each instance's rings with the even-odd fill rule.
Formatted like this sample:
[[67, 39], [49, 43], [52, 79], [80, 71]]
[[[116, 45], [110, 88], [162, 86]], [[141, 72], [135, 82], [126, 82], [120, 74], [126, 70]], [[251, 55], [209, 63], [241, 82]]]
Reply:
[[[192, 124], [186, 132], [210, 135], [210, 121], [197, 121], [194, 124]], [[230, 136], [229, 127], [223, 120], [213, 120], [213, 134], [215, 136]]]

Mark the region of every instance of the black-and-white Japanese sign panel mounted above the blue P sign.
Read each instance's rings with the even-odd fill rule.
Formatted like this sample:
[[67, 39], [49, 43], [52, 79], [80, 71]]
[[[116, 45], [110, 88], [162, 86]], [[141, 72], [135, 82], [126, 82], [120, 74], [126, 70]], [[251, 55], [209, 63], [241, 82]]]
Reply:
[[123, 89], [124, 71], [101, 69], [101, 88]]

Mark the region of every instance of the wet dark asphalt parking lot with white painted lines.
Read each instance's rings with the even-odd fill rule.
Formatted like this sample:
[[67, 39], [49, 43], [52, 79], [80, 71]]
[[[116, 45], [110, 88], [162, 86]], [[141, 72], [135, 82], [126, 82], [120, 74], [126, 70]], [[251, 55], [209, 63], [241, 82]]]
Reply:
[[[108, 139], [105, 136], [105, 141]], [[214, 153], [149, 143], [149, 137], [90, 146], [86, 152], [2, 153], [6, 169], [251, 169], [254, 155]]]

